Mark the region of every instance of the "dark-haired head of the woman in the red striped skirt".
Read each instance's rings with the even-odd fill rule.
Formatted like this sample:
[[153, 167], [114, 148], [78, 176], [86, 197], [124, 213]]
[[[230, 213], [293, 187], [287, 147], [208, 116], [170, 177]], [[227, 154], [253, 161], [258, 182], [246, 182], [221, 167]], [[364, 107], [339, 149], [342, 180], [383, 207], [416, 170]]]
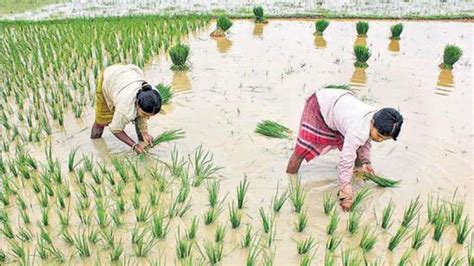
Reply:
[[383, 135], [397, 140], [403, 124], [402, 115], [393, 108], [383, 108], [374, 114], [374, 127]]

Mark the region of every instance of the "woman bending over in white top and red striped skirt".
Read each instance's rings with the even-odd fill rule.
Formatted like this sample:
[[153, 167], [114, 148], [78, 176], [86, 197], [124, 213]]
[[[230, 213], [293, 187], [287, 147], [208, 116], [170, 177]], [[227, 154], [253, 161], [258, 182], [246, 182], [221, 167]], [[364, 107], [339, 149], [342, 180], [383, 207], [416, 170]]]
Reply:
[[403, 117], [393, 108], [376, 110], [345, 89], [323, 88], [306, 100], [296, 147], [287, 173], [296, 174], [303, 159], [312, 160], [338, 148], [339, 199], [344, 211], [352, 205], [351, 178], [358, 171], [373, 173], [370, 164], [371, 140], [396, 140]]

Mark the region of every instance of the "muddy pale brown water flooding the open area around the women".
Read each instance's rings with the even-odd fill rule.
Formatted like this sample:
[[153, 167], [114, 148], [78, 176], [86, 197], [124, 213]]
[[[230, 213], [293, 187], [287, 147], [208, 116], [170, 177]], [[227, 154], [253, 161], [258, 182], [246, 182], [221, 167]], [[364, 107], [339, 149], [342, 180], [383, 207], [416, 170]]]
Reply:
[[[263, 206], [268, 212], [277, 187], [287, 187], [285, 168], [294, 139], [256, 135], [253, 131], [260, 120], [276, 120], [297, 132], [305, 99], [319, 86], [330, 83], [350, 83], [360, 99], [377, 107], [398, 108], [405, 118], [399, 140], [374, 144], [372, 162], [377, 172], [401, 179], [400, 187], [380, 189], [355, 181], [356, 188], [374, 188], [371, 199], [364, 204], [364, 223], [375, 226], [374, 211], [380, 217], [390, 199], [396, 203], [394, 226], [388, 233], [380, 232], [375, 250], [368, 254], [370, 259], [396, 264], [410, 241], [395, 253], [387, 252], [386, 245], [398, 227], [403, 208], [412, 198], [420, 195], [426, 202], [430, 193], [450, 197], [458, 188], [458, 197], [467, 200], [465, 211], [474, 220], [473, 205], [466, 196], [472, 195], [474, 186], [473, 36], [469, 23], [403, 22], [402, 39], [393, 44], [388, 39], [389, 26], [393, 23], [370, 22], [365, 41], [373, 55], [365, 70], [353, 66], [352, 45], [359, 41], [354, 21], [331, 21], [323, 39], [317, 40], [312, 21], [277, 20], [261, 27], [250, 21], [235, 21], [228, 36], [219, 39], [209, 37], [215, 27], [212, 25], [208, 31], [188, 40], [190, 71], [173, 73], [169, 60], [163, 57], [146, 69], [146, 76], [152, 82], [172, 84], [176, 91], [164, 114], [150, 121], [150, 132], [156, 135], [163, 130], [182, 128], [186, 138], [175, 142], [181, 154], [192, 152], [200, 144], [211, 150], [216, 164], [225, 167], [221, 172], [220, 195], [222, 198], [229, 193], [227, 202], [235, 199], [235, 187], [247, 176], [251, 185], [242, 222], [262, 231], [258, 208]], [[464, 52], [450, 74], [438, 68], [447, 43], [461, 46]], [[446, 75], [449, 84], [442, 81]], [[444, 93], [439, 93], [440, 90]], [[93, 114], [89, 109], [83, 120], [69, 123], [53, 135], [55, 153], [67, 154], [71, 147], [78, 146], [80, 152], [92, 153], [98, 160], [110, 154], [132, 156], [109, 132], [100, 140], [89, 139]], [[128, 130], [133, 132], [132, 127]], [[157, 147], [153, 155], [168, 160], [173, 145]], [[295, 233], [296, 215], [285, 204], [276, 220], [277, 265], [297, 264], [295, 241], [309, 235], [317, 240], [315, 261], [321, 264], [328, 223], [322, 209], [322, 195], [326, 191], [336, 193], [338, 156], [338, 152], [331, 152], [303, 163], [299, 177], [307, 191], [305, 208], [309, 224], [304, 233]], [[66, 156], [63, 160], [67, 160]], [[193, 215], [202, 217], [207, 208], [204, 187], [193, 190], [191, 195], [191, 215], [184, 220], [173, 220], [168, 240], [159, 244], [160, 253], [153, 253], [163, 255], [169, 264], [175, 262], [178, 226], [183, 231]], [[247, 255], [239, 248], [244, 227], [230, 229], [226, 205], [219, 217], [219, 222], [227, 223], [228, 227], [223, 264], [242, 264]], [[424, 221], [426, 208], [421, 215]], [[341, 214], [338, 227], [345, 236], [346, 219], [347, 215]], [[200, 243], [203, 238], [213, 239], [215, 227], [200, 227]], [[352, 238], [347, 235], [343, 244], [355, 247], [359, 239], [360, 233]], [[454, 240], [454, 228], [449, 227], [441, 243], [429, 240], [414, 258], [421, 261], [430, 247], [449, 247]], [[130, 241], [127, 238], [123, 242]], [[457, 250], [462, 252], [461, 247]], [[198, 257], [199, 253], [195, 251], [194, 256]]]

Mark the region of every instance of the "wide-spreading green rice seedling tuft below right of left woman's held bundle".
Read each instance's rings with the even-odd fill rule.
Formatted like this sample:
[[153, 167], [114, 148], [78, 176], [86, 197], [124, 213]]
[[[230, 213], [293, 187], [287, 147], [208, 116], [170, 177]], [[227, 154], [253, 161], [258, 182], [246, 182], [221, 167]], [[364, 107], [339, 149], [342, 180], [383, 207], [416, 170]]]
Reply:
[[201, 183], [215, 175], [222, 167], [213, 164], [213, 155], [209, 151], [205, 152], [202, 145], [194, 151], [193, 158], [190, 158], [194, 171], [193, 187], [199, 187]]

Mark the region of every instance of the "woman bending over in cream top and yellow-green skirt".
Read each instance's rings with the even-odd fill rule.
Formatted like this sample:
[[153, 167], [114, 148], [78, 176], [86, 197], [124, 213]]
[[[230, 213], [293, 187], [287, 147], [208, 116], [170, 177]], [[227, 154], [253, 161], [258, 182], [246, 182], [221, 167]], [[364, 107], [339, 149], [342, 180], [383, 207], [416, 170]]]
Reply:
[[119, 140], [140, 154], [144, 147], [125, 133], [125, 126], [134, 123], [138, 140], [148, 145], [153, 137], [148, 134], [147, 120], [160, 109], [161, 96], [145, 80], [140, 68], [123, 64], [109, 66], [99, 76], [91, 138], [102, 137], [104, 127], [109, 126]]

